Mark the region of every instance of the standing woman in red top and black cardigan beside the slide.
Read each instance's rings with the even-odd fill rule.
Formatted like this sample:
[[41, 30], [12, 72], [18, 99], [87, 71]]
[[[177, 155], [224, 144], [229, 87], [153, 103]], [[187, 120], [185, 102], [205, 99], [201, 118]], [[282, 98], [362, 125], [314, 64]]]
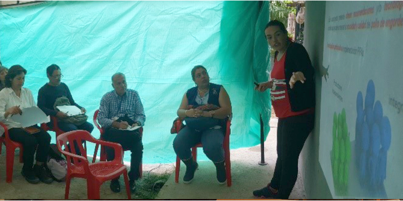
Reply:
[[298, 175], [298, 157], [314, 126], [314, 68], [305, 48], [291, 41], [283, 23], [270, 21], [264, 30], [268, 45], [276, 50], [271, 80], [256, 90], [271, 90], [276, 116], [277, 161], [267, 186], [253, 191], [264, 198], [288, 199]]

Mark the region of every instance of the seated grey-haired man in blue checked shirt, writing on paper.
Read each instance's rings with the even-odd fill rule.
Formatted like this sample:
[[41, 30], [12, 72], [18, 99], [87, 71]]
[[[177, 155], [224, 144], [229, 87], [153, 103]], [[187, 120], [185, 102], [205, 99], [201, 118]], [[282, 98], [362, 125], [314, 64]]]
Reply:
[[[136, 90], [127, 89], [126, 78], [123, 73], [112, 76], [114, 90], [107, 92], [101, 99], [98, 113], [98, 122], [104, 129], [103, 138], [109, 142], [122, 145], [123, 150], [130, 150], [130, 171], [128, 172], [130, 191], [135, 193], [136, 182], [140, 177], [139, 167], [143, 157], [143, 142], [139, 130], [124, 131], [128, 126], [143, 126], [146, 121], [143, 104]], [[113, 160], [114, 152], [106, 148], [107, 160]], [[120, 191], [119, 177], [113, 179], [110, 189]]]

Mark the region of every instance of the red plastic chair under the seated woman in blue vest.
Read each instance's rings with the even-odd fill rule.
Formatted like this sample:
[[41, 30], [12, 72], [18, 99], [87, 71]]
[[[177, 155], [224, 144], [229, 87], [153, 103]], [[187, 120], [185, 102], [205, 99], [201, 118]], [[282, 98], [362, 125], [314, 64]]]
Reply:
[[[231, 119], [231, 118], [230, 118]], [[223, 148], [224, 148], [224, 160], [225, 160], [225, 172], [227, 176], [227, 185], [230, 187], [232, 185], [232, 180], [231, 180], [231, 160], [230, 160], [230, 134], [231, 134], [231, 120], [227, 121], [227, 129], [225, 131], [225, 137], [224, 137], [224, 142], [223, 142]], [[183, 120], [182, 120], [183, 121]], [[182, 125], [181, 120], [177, 120], [175, 122], [176, 126], [176, 133], [179, 133], [180, 127]], [[201, 143], [196, 144], [194, 147], [192, 147], [192, 156], [194, 158], [194, 161], [197, 160], [197, 147], [203, 147]], [[176, 156], [176, 168], [175, 168], [175, 182], [179, 182], [179, 170], [180, 170], [180, 158]]]

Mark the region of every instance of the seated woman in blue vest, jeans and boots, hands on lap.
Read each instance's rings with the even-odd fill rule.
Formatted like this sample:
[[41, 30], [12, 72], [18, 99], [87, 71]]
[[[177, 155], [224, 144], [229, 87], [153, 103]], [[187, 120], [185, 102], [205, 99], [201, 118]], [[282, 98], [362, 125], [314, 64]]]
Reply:
[[[184, 183], [190, 183], [198, 165], [193, 160], [190, 148], [201, 142], [206, 156], [212, 160], [217, 170], [220, 184], [226, 181], [223, 141], [225, 122], [231, 114], [231, 101], [222, 85], [210, 83], [210, 77], [204, 66], [194, 66], [191, 71], [196, 84], [183, 95], [178, 109], [178, 117], [184, 119], [186, 126], [181, 129], [173, 141], [176, 155], [186, 165]], [[210, 110], [201, 110], [210, 108]]]

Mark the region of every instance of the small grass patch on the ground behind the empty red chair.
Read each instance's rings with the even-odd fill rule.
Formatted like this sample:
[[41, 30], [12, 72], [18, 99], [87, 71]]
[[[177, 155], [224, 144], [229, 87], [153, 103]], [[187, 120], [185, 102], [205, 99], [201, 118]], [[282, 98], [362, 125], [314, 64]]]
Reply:
[[[146, 176], [147, 175], [147, 176]], [[158, 192], [169, 178], [169, 173], [146, 174], [137, 184], [137, 192], [132, 198], [136, 199], [155, 199]]]

